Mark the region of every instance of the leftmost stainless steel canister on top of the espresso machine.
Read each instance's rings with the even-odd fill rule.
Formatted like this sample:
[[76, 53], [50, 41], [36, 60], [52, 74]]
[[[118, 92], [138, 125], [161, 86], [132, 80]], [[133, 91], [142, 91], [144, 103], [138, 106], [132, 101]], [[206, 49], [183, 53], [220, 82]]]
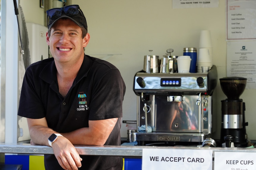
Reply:
[[147, 73], [159, 73], [159, 56], [144, 56], [143, 70]]

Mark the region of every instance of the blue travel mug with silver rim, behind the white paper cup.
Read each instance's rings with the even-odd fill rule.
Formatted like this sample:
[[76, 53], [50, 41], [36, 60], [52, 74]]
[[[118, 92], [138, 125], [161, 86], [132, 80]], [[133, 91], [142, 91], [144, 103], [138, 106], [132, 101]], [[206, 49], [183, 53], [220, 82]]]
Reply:
[[196, 48], [193, 48], [193, 47], [183, 48], [183, 55], [190, 56], [190, 58], [191, 58], [189, 72], [197, 73], [197, 67], [196, 67], [197, 51], [196, 51]]

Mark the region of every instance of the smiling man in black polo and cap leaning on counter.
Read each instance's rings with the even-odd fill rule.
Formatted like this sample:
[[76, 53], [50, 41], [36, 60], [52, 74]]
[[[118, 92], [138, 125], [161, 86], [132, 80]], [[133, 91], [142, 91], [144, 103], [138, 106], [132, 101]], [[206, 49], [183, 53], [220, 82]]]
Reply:
[[121, 157], [79, 156], [73, 146], [121, 144], [120, 72], [84, 54], [90, 35], [78, 5], [49, 9], [47, 15], [53, 58], [27, 68], [18, 110], [27, 117], [31, 143], [52, 146], [46, 170], [122, 169]]

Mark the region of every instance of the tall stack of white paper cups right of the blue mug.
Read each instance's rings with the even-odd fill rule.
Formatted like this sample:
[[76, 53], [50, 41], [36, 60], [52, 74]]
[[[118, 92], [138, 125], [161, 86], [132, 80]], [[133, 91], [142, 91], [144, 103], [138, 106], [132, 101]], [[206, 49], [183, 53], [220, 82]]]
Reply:
[[199, 41], [197, 72], [208, 72], [207, 70], [212, 67], [212, 57], [213, 49], [211, 44], [211, 32], [210, 30], [202, 30]]

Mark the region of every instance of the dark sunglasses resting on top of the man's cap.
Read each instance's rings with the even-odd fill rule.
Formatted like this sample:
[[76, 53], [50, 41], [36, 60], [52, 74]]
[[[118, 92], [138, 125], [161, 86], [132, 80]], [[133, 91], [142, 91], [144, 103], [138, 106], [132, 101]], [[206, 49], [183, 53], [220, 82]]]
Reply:
[[[61, 17], [61, 12], [64, 11], [67, 16], [77, 15], [80, 11], [83, 14], [83, 11], [79, 7], [79, 5], [68, 5], [62, 8], [53, 8], [46, 11], [46, 14], [50, 20], [55, 20]], [[85, 18], [84, 14], [83, 17]], [[47, 20], [48, 25], [48, 20]]]

